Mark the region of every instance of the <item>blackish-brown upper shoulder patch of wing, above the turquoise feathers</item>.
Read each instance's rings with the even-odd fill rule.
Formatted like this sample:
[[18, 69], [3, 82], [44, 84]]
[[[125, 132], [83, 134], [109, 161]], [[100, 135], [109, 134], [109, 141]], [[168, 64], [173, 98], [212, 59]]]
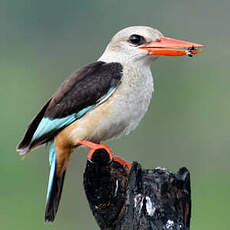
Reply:
[[121, 80], [119, 63], [95, 62], [89, 64], [67, 79], [54, 94], [45, 117], [62, 118], [95, 105]]

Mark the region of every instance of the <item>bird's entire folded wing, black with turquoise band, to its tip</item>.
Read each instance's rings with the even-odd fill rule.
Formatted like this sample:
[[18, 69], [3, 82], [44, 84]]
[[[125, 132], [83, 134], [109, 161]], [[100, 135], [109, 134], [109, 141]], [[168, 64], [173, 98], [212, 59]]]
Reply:
[[17, 150], [25, 154], [52, 139], [77, 119], [79, 112], [96, 105], [117, 88], [121, 77], [121, 64], [101, 61], [73, 73], [32, 120]]

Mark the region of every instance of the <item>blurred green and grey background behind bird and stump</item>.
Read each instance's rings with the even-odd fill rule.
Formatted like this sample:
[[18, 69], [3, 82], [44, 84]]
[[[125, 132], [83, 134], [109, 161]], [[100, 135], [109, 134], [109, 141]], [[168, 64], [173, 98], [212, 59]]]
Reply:
[[95, 61], [114, 33], [150, 25], [205, 44], [205, 52], [154, 62], [155, 92], [147, 115], [135, 132], [107, 144], [145, 168], [188, 167], [191, 229], [228, 230], [229, 12], [229, 0], [0, 0], [1, 229], [98, 229], [82, 188], [87, 150], [73, 155], [59, 213], [47, 225], [48, 151], [40, 148], [22, 161], [15, 147], [61, 82]]

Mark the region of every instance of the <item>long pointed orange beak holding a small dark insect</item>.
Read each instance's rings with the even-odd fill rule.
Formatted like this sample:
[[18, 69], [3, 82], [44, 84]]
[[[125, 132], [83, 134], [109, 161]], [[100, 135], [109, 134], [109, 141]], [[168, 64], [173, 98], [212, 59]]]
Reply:
[[140, 49], [148, 51], [149, 55], [165, 55], [165, 56], [193, 56], [201, 53], [199, 48], [203, 47], [201, 44], [176, 40], [173, 38], [161, 37], [159, 41], [151, 42], [143, 45]]

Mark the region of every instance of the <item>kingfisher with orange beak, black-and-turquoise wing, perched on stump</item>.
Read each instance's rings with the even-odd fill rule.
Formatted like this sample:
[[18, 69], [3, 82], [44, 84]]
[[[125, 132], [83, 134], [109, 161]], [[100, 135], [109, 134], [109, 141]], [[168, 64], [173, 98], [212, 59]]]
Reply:
[[150, 70], [159, 56], [192, 56], [202, 45], [163, 36], [148, 26], [114, 35], [101, 57], [65, 80], [32, 119], [17, 146], [20, 155], [49, 144], [50, 175], [45, 221], [58, 210], [66, 169], [78, 140], [94, 144], [128, 134], [147, 112], [153, 88]]

